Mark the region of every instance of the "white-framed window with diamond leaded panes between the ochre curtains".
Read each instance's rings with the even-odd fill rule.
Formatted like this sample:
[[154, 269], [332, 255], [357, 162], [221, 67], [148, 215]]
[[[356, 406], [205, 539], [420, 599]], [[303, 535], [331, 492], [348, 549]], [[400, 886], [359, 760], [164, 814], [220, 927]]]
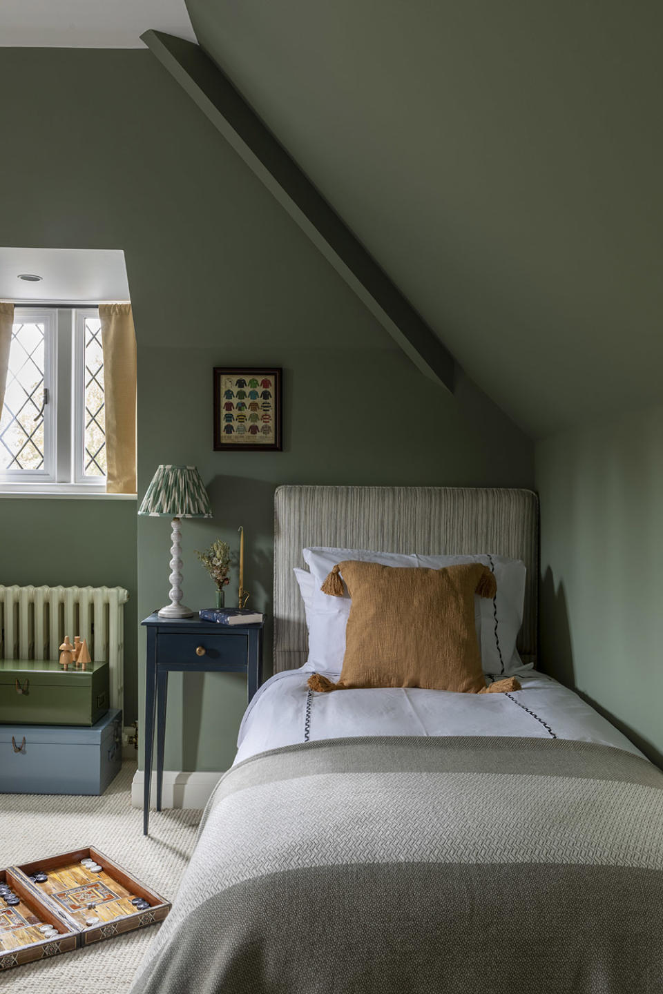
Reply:
[[16, 307], [0, 418], [0, 490], [104, 493], [96, 307]]

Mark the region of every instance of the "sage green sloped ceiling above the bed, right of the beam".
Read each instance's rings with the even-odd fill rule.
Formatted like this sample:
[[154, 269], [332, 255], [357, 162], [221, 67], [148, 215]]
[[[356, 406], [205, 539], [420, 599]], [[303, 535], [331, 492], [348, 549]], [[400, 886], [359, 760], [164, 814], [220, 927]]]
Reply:
[[660, 397], [663, 5], [187, 7], [202, 47], [524, 429]]

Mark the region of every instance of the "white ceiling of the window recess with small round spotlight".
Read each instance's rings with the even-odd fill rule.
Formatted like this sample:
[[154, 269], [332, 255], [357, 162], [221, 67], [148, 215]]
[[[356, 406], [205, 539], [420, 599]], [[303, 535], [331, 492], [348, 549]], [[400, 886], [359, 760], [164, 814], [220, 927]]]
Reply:
[[[18, 278], [31, 272], [43, 279]], [[0, 248], [0, 300], [128, 300], [121, 248]]]

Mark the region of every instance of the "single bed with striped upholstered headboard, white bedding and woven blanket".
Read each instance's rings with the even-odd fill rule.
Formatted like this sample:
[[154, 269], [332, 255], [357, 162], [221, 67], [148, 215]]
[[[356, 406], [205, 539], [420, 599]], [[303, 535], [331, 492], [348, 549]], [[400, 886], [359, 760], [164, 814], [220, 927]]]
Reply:
[[[522, 689], [312, 693], [312, 545], [523, 560]], [[135, 994], [663, 991], [663, 775], [528, 669], [537, 555], [529, 491], [279, 488], [275, 673]]]

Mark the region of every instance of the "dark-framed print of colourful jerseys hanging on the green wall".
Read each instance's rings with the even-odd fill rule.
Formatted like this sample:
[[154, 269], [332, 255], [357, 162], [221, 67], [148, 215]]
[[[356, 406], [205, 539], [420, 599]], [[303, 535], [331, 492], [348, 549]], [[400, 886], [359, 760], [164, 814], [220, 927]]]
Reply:
[[217, 366], [214, 447], [218, 452], [281, 451], [281, 370]]

